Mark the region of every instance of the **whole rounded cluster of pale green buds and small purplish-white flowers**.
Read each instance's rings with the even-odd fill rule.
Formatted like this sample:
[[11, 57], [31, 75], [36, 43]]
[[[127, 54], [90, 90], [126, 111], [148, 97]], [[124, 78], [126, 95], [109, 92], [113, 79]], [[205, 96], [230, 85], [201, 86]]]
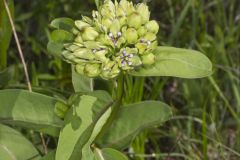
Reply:
[[66, 61], [88, 77], [111, 79], [154, 63], [158, 23], [144, 3], [105, 0], [92, 18], [75, 21], [73, 42], [64, 44]]

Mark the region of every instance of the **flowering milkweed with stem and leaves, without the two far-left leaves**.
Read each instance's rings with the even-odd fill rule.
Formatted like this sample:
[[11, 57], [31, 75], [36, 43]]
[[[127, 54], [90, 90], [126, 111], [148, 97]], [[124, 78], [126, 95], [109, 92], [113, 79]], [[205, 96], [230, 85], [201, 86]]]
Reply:
[[[125, 160], [122, 151], [136, 135], [171, 118], [170, 107], [160, 101], [124, 104], [126, 76], [202, 78], [212, 73], [204, 54], [158, 45], [159, 22], [150, 18], [145, 3], [105, 0], [91, 17], [57, 18], [50, 26], [49, 52], [72, 65], [76, 86], [89, 85], [55, 104], [55, 114], [64, 121], [56, 160]], [[95, 79], [109, 82], [113, 92], [93, 90]]]

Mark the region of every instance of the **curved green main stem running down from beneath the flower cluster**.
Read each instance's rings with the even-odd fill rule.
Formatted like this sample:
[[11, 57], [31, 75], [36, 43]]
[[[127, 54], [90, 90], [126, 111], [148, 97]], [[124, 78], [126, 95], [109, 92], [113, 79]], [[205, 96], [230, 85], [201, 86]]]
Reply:
[[115, 103], [112, 106], [112, 113], [111, 113], [108, 121], [106, 122], [106, 124], [103, 126], [101, 132], [96, 137], [96, 139], [101, 139], [102, 136], [104, 135], [104, 133], [108, 130], [108, 128], [111, 127], [112, 122], [114, 121], [114, 119], [122, 105], [122, 98], [123, 98], [123, 91], [124, 91], [124, 75], [120, 74], [119, 77], [117, 78], [116, 82], [117, 82], [117, 89], [114, 90]]

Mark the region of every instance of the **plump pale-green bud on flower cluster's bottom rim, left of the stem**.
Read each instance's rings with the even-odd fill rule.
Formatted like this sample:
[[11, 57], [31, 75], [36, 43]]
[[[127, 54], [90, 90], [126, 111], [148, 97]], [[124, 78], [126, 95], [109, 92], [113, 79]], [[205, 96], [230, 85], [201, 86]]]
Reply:
[[100, 64], [86, 64], [84, 67], [84, 73], [88, 77], [97, 77], [100, 74]]

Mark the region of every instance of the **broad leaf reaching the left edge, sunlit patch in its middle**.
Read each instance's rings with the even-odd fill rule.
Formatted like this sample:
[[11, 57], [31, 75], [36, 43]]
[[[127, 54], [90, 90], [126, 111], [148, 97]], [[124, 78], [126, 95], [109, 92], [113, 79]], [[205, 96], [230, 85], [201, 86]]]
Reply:
[[54, 113], [55, 98], [26, 90], [0, 91], [0, 122], [57, 136], [63, 125]]

